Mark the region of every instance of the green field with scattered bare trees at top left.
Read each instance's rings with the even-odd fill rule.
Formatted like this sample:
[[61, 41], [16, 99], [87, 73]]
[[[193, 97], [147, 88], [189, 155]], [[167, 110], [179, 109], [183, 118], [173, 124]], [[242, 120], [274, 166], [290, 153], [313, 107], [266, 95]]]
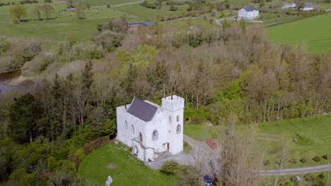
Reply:
[[122, 11], [112, 8], [86, 11], [86, 18], [79, 20], [75, 12], [62, 11], [65, 4], [52, 4], [55, 9], [50, 20], [37, 20], [33, 15], [33, 8], [37, 4], [25, 5], [28, 7], [28, 16], [21, 23], [13, 23], [9, 15], [10, 6], [0, 7], [0, 36], [23, 37], [28, 39], [43, 39], [44, 42], [62, 41], [67, 35], [76, 35], [79, 40], [88, 40], [96, 32], [96, 25], [108, 22], [112, 18], [128, 16]]

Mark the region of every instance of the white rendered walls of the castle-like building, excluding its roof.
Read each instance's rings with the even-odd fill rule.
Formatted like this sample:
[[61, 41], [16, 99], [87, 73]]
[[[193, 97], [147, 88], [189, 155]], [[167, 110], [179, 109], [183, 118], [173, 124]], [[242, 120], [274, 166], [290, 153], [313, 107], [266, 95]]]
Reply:
[[[153, 104], [150, 101], [146, 101], [149, 104]], [[149, 122], [144, 122], [130, 113], [127, 113], [125, 106], [117, 107], [117, 140], [127, 144], [127, 146], [133, 146], [134, 138], [139, 139], [139, 133], [142, 135], [142, 144], [146, 148], [145, 159], [141, 159], [142, 154], [139, 148], [138, 158], [147, 161], [148, 158], [153, 157], [153, 152], [167, 151], [167, 143], [169, 143], [169, 151], [171, 154], [177, 154], [183, 149], [183, 120], [184, 120], [184, 99], [181, 97], [173, 96], [162, 99], [162, 107], [156, 104], [158, 107], [155, 116]], [[177, 116], [179, 120], [177, 121]], [[171, 118], [171, 119], [170, 119]], [[125, 127], [127, 123], [127, 128]], [[177, 126], [180, 125], [180, 132], [177, 133]], [[134, 132], [132, 132], [132, 126]], [[158, 132], [158, 137], [153, 140], [153, 131]], [[135, 142], [136, 144], [136, 142]], [[136, 144], [137, 145], [137, 144]]]

